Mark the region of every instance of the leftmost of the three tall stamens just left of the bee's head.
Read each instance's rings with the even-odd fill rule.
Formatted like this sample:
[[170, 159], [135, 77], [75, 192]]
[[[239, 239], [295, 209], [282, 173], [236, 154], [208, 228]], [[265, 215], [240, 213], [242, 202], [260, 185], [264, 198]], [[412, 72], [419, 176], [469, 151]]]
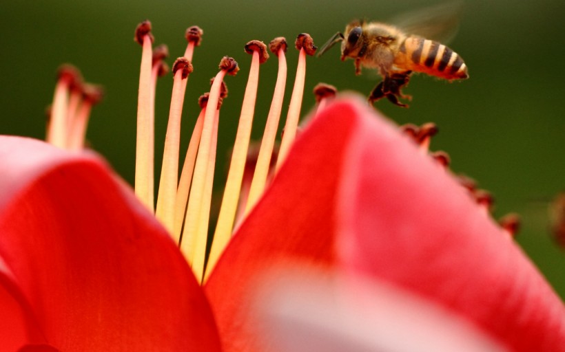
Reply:
[[245, 52], [253, 55], [253, 58], [251, 58], [249, 78], [247, 80], [247, 87], [245, 88], [245, 96], [243, 97], [238, 132], [232, 153], [232, 162], [229, 164], [222, 206], [220, 207], [216, 232], [214, 232], [214, 239], [212, 240], [212, 250], [209, 259], [209, 263], [212, 267], [216, 265], [220, 253], [223, 252], [225, 245], [227, 245], [227, 242], [232, 236], [243, 171], [245, 169], [245, 160], [247, 159], [247, 148], [249, 148], [251, 126], [253, 125], [255, 100], [259, 84], [259, 65], [260, 63], [265, 63], [267, 58], [269, 58], [267, 45], [261, 41], [250, 41], [247, 43], [245, 45]]

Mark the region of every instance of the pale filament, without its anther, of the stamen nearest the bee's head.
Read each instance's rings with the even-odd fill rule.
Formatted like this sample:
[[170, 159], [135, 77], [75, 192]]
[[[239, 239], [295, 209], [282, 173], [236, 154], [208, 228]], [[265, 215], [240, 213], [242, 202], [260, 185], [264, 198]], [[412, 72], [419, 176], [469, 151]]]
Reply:
[[296, 137], [296, 129], [298, 128], [298, 120], [300, 119], [300, 107], [302, 105], [302, 95], [304, 94], [304, 81], [306, 76], [306, 52], [304, 48], [300, 49], [298, 54], [298, 67], [296, 68], [296, 79], [294, 80], [294, 88], [290, 98], [289, 112], [287, 113], [287, 122], [283, 133], [283, 140], [280, 141], [280, 149], [278, 151], [278, 159], [276, 161], [276, 169], [285, 161], [289, 153], [292, 142]]

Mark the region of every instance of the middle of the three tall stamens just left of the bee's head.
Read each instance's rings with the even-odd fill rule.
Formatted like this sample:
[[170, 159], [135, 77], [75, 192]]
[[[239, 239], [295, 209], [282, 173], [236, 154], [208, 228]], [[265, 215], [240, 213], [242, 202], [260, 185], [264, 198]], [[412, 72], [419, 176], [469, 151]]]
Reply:
[[276, 139], [276, 131], [278, 129], [278, 120], [280, 119], [280, 111], [283, 109], [283, 98], [285, 97], [285, 86], [287, 82], [287, 41], [282, 36], [275, 38], [269, 43], [269, 50], [278, 56], [278, 74], [276, 78], [275, 91], [269, 115], [267, 115], [267, 123], [265, 124], [265, 132], [261, 141], [261, 148], [257, 157], [257, 165], [251, 181], [249, 189], [249, 197], [245, 213], [247, 214], [254, 206], [259, 197], [265, 190], [267, 183], [267, 175], [269, 174], [269, 165], [271, 164], [271, 155]]

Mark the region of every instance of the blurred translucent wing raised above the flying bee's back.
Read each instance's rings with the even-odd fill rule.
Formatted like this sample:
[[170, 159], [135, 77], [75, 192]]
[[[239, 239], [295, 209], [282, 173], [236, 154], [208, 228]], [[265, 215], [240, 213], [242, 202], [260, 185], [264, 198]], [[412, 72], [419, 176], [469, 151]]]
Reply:
[[459, 30], [459, 18], [463, 1], [440, 3], [428, 8], [400, 14], [391, 19], [407, 34], [447, 44]]

